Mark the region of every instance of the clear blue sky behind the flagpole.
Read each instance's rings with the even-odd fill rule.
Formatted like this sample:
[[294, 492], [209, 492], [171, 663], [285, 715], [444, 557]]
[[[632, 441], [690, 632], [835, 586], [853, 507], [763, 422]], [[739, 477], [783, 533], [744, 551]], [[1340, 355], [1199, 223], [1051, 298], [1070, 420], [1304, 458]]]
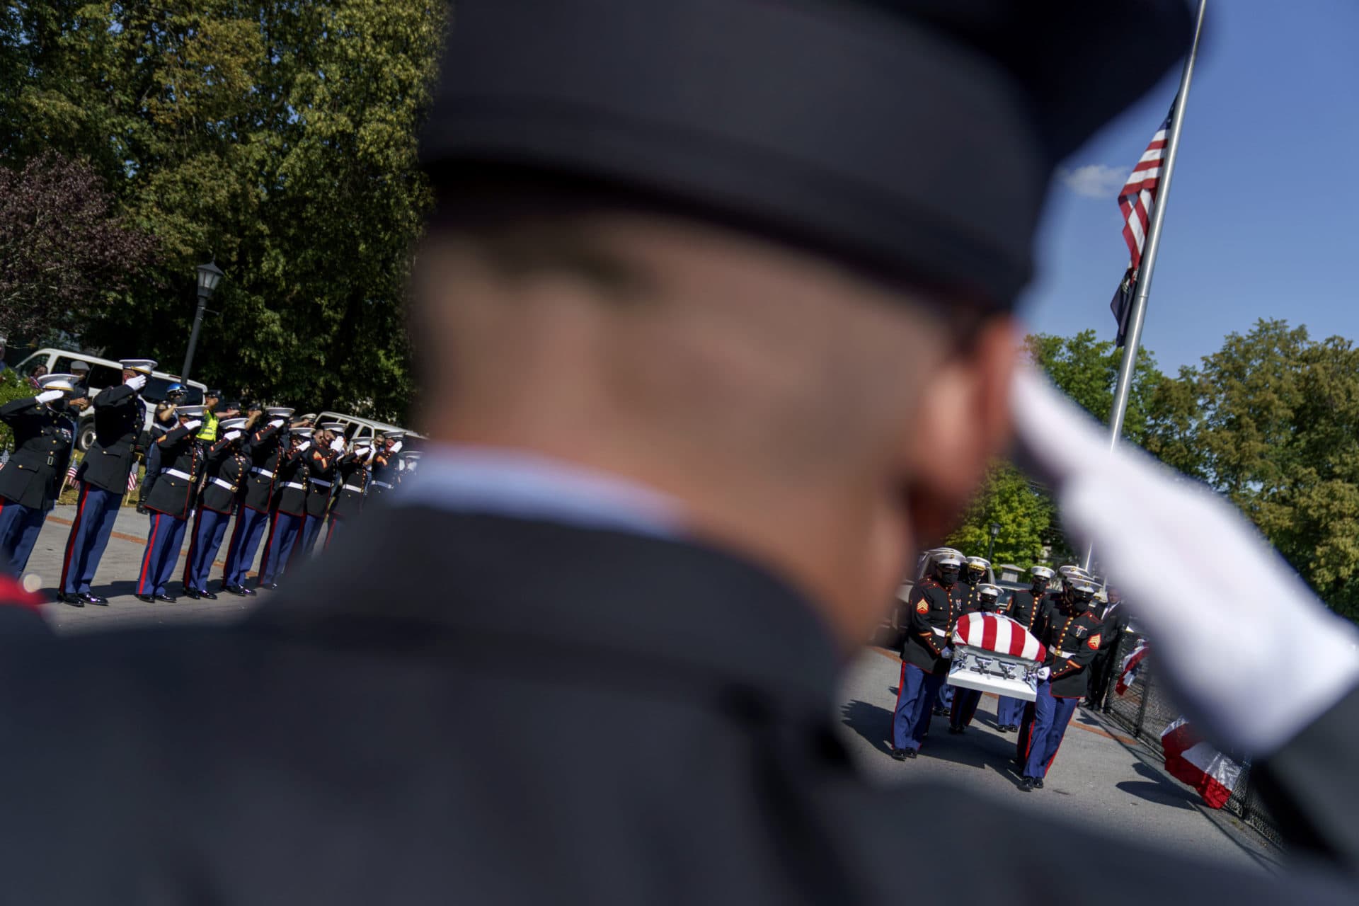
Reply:
[[[1257, 318], [1359, 340], [1356, 38], [1355, 0], [1208, 0], [1147, 308], [1144, 345], [1165, 371], [1197, 364]], [[1136, 65], [1135, 46], [1120, 65]], [[1117, 186], [1178, 77], [1055, 183], [1021, 310], [1030, 329], [1113, 338], [1108, 306], [1128, 264]]]

